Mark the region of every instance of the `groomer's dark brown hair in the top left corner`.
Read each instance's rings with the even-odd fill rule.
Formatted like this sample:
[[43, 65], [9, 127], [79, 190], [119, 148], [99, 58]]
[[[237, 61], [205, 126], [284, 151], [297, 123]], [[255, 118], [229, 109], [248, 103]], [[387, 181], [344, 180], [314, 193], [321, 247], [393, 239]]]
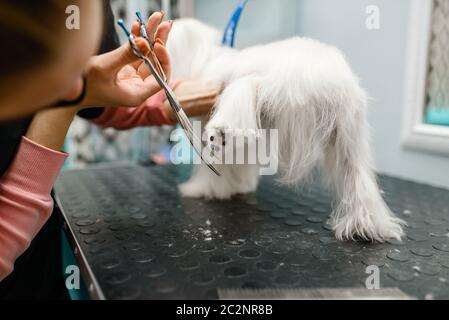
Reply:
[[76, 1], [14, 0], [0, 2], [0, 76], [25, 71], [50, 60], [57, 52], [58, 30], [65, 9]]

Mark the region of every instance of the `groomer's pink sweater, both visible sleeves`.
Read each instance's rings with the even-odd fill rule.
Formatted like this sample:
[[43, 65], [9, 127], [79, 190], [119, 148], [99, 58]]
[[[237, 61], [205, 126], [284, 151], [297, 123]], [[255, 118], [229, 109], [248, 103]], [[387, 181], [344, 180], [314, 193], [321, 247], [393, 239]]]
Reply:
[[[117, 129], [173, 124], [162, 109], [164, 100], [161, 91], [136, 108], [106, 108], [93, 122]], [[15, 260], [53, 211], [50, 192], [66, 157], [23, 137], [0, 178], [0, 281], [13, 271]]]

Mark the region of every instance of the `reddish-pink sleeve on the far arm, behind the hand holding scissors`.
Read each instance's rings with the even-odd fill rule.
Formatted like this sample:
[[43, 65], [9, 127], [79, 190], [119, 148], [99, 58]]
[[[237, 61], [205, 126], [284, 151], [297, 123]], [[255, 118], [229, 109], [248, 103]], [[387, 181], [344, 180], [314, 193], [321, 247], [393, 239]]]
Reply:
[[[171, 85], [175, 88], [180, 82]], [[103, 113], [92, 122], [102, 128], [127, 130], [143, 126], [175, 125], [176, 121], [168, 118], [163, 103], [166, 95], [163, 90], [148, 98], [136, 108], [105, 108]]]

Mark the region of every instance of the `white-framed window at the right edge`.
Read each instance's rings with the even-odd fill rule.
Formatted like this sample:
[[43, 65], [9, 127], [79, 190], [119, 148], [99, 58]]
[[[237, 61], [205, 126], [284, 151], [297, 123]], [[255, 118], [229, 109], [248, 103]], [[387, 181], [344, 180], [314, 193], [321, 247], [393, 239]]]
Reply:
[[413, 0], [404, 145], [449, 156], [449, 1]]

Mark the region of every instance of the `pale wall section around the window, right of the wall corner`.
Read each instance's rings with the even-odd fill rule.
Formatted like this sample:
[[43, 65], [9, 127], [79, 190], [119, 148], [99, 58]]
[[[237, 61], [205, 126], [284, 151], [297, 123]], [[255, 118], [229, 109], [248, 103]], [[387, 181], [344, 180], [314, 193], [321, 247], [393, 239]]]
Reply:
[[[430, 0], [423, 0], [430, 1]], [[298, 31], [339, 47], [368, 90], [372, 145], [379, 171], [449, 187], [449, 158], [401, 145], [409, 0], [300, 0]], [[381, 28], [365, 27], [377, 5]]]

